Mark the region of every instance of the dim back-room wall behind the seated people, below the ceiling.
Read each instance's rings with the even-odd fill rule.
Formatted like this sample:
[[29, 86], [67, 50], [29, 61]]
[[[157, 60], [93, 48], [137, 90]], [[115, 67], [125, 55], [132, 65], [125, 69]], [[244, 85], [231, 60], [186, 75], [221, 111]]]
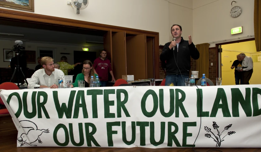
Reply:
[[[14, 40], [0, 40], [0, 50], [3, 49], [12, 49], [14, 45]], [[45, 48], [54, 48], [55, 49], [55, 62], [60, 61], [60, 58], [63, 56], [60, 53], [70, 53], [70, 55], [65, 55], [68, 58], [69, 64], [74, 64], [74, 54], [73, 51], [81, 51], [83, 50], [83, 46], [73, 46], [73, 45], [58, 45], [58, 44], [46, 44], [46, 43], [32, 43], [32, 42], [24, 42], [23, 46], [26, 47], [25, 50], [28, 51], [36, 51], [36, 58], [38, 57], [38, 47]], [[29, 48], [28, 46], [31, 46]], [[86, 47], [84, 47], [86, 48]], [[97, 52], [96, 55], [100, 55], [99, 51], [103, 49], [103, 47], [87, 47], [89, 51]], [[8, 68], [10, 62], [3, 62], [3, 53], [0, 55], [0, 68]], [[27, 67], [30, 69], [35, 69], [36, 65], [38, 65], [37, 60], [35, 64], [27, 64]]]

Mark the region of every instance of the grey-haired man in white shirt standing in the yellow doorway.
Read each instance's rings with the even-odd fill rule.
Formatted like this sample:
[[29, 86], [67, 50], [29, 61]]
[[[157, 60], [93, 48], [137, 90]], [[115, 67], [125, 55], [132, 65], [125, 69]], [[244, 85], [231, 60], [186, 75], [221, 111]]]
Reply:
[[242, 69], [238, 71], [242, 72], [243, 84], [249, 84], [249, 80], [253, 74], [253, 59], [244, 53], [240, 53], [239, 58], [242, 60]]

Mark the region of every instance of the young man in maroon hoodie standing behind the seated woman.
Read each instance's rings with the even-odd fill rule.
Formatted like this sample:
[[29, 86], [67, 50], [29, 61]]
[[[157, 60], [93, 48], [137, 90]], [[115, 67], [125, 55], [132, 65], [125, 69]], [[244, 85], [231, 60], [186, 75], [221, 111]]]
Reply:
[[116, 81], [113, 76], [111, 61], [106, 57], [107, 51], [101, 50], [100, 57], [95, 59], [93, 62], [93, 68], [99, 76], [102, 87], [106, 87], [107, 85], [109, 72], [112, 75], [112, 81]]

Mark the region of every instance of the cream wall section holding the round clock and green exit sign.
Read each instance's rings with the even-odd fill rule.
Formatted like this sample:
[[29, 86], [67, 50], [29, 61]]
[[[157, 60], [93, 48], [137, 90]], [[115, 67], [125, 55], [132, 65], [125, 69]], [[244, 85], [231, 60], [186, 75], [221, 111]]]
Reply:
[[[233, 3], [232, 7], [242, 8], [241, 15], [236, 18], [230, 16], [231, 2], [193, 0], [193, 42], [195, 44], [254, 35], [254, 0], [237, 0], [237, 3]], [[231, 28], [238, 26], [243, 26], [243, 33], [231, 35]], [[210, 47], [214, 46], [215, 43], [211, 43]]]

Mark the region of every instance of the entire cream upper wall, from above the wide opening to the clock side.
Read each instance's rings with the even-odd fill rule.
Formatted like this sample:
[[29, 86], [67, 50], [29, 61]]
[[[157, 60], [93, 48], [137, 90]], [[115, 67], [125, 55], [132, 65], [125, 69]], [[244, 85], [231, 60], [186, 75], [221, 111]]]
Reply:
[[[34, 13], [159, 32], [161, 45], [172, 40], [173, 24], [183, 27], [185, 40], [192, 35], [195, 45], [254, 35], [254, 0], [233, 3], [242, 7], [242, 14], [236, 18], [229, 15], [232, 7], [228, 0], [90, 0], [80, 14], [67, 1], [55, 3], [35, 1]], [[231, 35], [231, 28], [238, 26], [243, 26], [243, 33]], [[213, 46], [215, 43], [211, 43]]]

